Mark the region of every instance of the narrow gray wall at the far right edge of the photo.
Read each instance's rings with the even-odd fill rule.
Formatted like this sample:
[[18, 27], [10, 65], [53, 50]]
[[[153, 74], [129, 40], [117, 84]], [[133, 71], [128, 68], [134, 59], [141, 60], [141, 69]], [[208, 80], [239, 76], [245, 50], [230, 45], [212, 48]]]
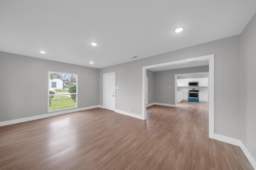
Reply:
[[241, 140], [256, 160], [256, 14], [241, 34]]

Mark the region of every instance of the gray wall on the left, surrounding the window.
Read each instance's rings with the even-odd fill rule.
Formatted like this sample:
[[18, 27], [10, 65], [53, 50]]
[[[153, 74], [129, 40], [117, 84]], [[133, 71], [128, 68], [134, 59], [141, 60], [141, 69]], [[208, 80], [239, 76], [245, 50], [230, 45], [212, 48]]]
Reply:
[[78, 108], [98, 105], [98, 69], [0, 52], [0, 121], [47, 113], [48, 71], [78, 74]]

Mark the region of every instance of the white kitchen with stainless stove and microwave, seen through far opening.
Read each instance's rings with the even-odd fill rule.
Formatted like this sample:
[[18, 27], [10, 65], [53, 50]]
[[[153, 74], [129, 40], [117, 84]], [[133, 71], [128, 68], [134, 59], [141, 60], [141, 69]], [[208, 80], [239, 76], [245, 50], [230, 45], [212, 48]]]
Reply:
[[200, 78], [177, 76], [177, 102], [209, 102], [208, 74], [194, 75]]

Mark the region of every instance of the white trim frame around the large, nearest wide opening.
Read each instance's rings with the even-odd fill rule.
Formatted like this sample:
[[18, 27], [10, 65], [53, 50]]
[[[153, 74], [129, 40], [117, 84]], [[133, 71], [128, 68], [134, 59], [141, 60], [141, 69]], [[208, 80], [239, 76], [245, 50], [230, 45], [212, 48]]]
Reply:
[[146, 74], [147, 69], [191, 61], [209, 60], [209, 138], [214, 139], [214, 54], [142, 67], [142, 119], [146, 119]]

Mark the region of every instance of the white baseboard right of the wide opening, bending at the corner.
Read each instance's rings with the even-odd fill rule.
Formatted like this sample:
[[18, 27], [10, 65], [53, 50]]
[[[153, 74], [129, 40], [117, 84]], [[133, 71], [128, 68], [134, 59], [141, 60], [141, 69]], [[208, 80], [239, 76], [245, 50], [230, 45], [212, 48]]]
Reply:
[[250, 152], [246, 149], [246, 147], [244, 146], [241, 140], [234, 139], [231, 137], [226, 137], [216, 133], [214, 133], [214, 139], [240, 147], [244, 152], [245, 156], [247, 157], [247, 159], [249, 160], [249, 162], [252, 164], [252, 167], [256, 170], [256, 161], [254, 160]]

